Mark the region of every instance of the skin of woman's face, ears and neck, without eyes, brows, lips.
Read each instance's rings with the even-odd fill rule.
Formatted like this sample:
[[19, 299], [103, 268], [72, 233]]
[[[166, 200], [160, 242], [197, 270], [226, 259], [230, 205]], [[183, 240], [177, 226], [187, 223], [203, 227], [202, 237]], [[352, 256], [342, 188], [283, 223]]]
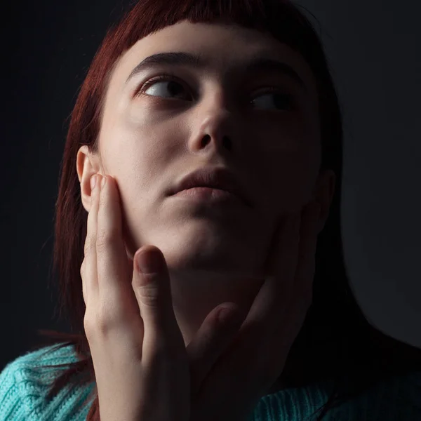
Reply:
[[[211, 67], [149, 69], [125, 81], [154, 53], [202, 53]], [[258, 51], [279, 58], [305, 81], [307, 93], [282, 74], [230, 74]], [[173, 72], [180, 95], [155, 81]], [[295, 109], [276, 105], [274, 86], [291, 93]], [[254, 99], [241, 102], [240, 95]], [[140, 39], [124, 53], [107, 88], [99, 145], [77, 154], [83, 207], [91, 208], [90, 179], [110, 175], [119, 188], [129, 258], [147, 244], [166, 258], [175, 316], [187, 346], [208, 313], [222, 302], [248, 312], [264, 274], [260, 267], [284, 215], [309, 201], [321, 205], [318, 230], [328, 218], [335, 189], [332, 171], [319, 173], [321, 139], [316, 84], [302, 56], [269, 34], [237, 25], [187, 21]], [[247, 206], [210, 207], [167, 197], [168, 187], [203, 166], [226, 166], [246, 187]]]

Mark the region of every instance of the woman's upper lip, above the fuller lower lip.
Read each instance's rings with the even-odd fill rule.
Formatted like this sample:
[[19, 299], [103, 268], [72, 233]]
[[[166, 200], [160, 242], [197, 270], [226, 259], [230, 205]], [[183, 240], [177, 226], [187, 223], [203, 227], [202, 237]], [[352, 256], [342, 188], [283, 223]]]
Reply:
[[251, 205], [246, 190], [243, 189], [235, 175], [223, 167], [199, 168], [185, 175], [182, 180], [175, 184], [169, 194], [177, 194], [182, 190], [192, 189], [193, 187], [213, 187], [226, 190], [239, 197], [248, 206]]

